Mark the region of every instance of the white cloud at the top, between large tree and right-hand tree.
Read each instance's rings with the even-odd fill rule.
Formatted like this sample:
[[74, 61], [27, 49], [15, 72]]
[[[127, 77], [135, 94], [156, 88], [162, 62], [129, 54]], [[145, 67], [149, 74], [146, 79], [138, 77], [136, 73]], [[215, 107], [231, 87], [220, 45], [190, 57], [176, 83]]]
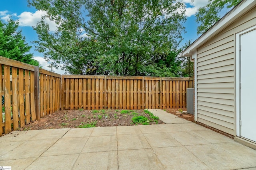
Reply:
[[191, 0], [183, 0], [183, 2], [185, 4], [190, 4], [190, 6], [192, 6], [192, 7], [186, 8], [186, 12], [185, 12], [186, 16], [190, 17], [196, 14], [197, 10], [200, 7], [205, 6], [208, 3], [208, 0], [194, 0], [193, 2]]

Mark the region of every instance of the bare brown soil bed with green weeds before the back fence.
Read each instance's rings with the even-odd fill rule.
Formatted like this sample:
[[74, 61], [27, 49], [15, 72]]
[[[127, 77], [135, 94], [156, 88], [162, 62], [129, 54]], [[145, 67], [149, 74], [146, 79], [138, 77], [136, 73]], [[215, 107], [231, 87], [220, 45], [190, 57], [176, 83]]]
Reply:
[[[168, 113], [175, 114], [178, 109], [164, 109]], [[190, 114], [188, 114], [190, 115]], [[184, 119], [192, 119], [182, 117]], [[135, 117], [135, 118], [134, 118]], [[146, 119], [144, 118], [146, 117]], [[133, 119], [133, 120], [132, 120]], [[194, 120], [194, 119], [192, 119]], [[143, 123], [144, 121], [144, 123]], [[191, 121], [191, 120], [190, 120]], [[46, 115], [26, 125], [20, 130], [39, 130], [52, 128], [85, 128], [85, 127], [112, 127], [132, 125], [164, 124], [157, 117], [144, 110], [64, 110]]]

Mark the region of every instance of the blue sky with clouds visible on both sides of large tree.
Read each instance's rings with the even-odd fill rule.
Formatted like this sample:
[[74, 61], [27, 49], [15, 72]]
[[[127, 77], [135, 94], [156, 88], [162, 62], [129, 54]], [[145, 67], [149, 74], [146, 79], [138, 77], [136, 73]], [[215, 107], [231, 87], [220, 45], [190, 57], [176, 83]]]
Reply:
[[[188, 42], [188, 40], [196, 40], [199, 36], [196, 34], [196, 28], [198, 24], [196, 23], [196, 18], [194, 14], [196, 10], [202, 6], [204, 6], [208, 0], [183, 0], [186, 3], [186, 16], [187, 21], [184, 23], [186, 27], [186, 33], [183, 34], [184, 40], [182, 41], [181, 45]], [[44, 69], [50, 70], [47, 67], [48, 62], [43, 59], [43, 55], [38, 51], [35, 51], [35, 45], [31, 42], [37, 40], [36, 31], [33, 30], [32, 26], [36, 26], [36, 22], [40, 20], [40, 17], [44, 14], [42, 11], [36, 10], [34, 7], [27, 6], [27, 0], [0, 0], [0, 18], [1, 20], [7, 20], [10, 16], [12, 16], [13, 20], [20, 21], [19, 29], [22, 30], [22, 35], [25, 36], [26, 42], [32, 46], [30, 52], [34, 53], [34, 58], [37, 59], [42, 65]], [[54, 29], [54, 24], [51, 24], [50, 27]], [[53, 69], [52, 71], [56, 73], [63, 74], [64, 71]]]

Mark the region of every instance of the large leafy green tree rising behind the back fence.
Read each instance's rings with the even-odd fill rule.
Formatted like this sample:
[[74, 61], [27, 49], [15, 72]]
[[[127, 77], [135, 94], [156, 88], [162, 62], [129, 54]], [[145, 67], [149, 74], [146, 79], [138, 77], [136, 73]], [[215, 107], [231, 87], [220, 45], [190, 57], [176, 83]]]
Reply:
[[72, 74], [175, 75], [167, 73], [171, 69], [166, 64], [155, 62], [171, 55], [182, 40], [186, 17], [181, 0], [28, 3], [47, 11], [47, 17], [58, 24], [56, 32], [50, 32], [42, 18], [34, 28], [38, 51], [52, 59], [54, 67], [63, 64], [62, 69]]

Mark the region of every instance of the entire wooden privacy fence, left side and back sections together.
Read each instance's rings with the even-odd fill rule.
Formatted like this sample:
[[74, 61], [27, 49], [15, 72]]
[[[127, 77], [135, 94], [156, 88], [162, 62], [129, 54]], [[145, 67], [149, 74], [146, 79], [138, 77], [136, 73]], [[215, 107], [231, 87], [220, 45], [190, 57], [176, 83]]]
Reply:
[[72, 109], [186, 108], [193, 78], [60, 75], [0, 57], [0, 135]]

